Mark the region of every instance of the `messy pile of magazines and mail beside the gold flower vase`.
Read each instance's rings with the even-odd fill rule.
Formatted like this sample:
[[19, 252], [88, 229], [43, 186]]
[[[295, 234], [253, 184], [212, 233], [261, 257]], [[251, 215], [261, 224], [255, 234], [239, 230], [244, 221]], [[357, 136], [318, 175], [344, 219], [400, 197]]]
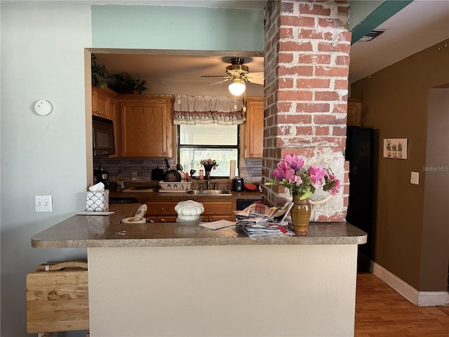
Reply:
[[295, 233], [288, 229], [286, 221], [286, 216], [292, 206], [293, 202], [291, 201], [282, 209], [252, 204], [236, 213], [236, 227], [248, 234], [250, 239], [293, 236]]

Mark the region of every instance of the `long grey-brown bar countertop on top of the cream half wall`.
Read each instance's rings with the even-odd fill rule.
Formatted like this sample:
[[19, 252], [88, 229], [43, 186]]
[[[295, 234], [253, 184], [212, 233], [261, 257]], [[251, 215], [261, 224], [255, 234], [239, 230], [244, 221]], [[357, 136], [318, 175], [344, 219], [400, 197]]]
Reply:
[[140, 204], [109, 206], [110, 216], [75, 215], [32, 237], [34, 248], [92, 248], [145, 246], [364, 244], [366, 232], [349, 223], [310, 223], [309, 232], [294, 237], [250, 239], [236, 227], [210, 230], [178, 223], [123, 224]]

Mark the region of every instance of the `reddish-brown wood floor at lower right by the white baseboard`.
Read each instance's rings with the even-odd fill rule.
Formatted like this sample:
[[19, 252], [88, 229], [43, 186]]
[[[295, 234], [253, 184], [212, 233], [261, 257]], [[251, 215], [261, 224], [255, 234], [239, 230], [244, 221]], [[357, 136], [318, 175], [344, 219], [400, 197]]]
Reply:
[[370, 273], [357, 275], [355, 337], [449, 337], [448, 307], [417, 307]]

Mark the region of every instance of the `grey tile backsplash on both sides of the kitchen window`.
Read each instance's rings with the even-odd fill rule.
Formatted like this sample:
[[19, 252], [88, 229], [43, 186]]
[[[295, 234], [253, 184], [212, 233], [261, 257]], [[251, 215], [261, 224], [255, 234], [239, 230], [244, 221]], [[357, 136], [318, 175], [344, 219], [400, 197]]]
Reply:
[[[168, 159], [171, 168], [176, 167], [173, 158]], [[109, 182], [115, 182], [121, 174], [126, 182], [142, 183], [152, 181], [152, 170], [159, 167], [165, 172], [165, 159], [123, 159], [94, 158], [94, 169], [102, 167], [109, 173]], [[262, 159], [246, 159], [239, 163], [239, 176], [246, 183], [260, 183], [262, 180]], [[126, 185], [125, 185], [126, 186]]]

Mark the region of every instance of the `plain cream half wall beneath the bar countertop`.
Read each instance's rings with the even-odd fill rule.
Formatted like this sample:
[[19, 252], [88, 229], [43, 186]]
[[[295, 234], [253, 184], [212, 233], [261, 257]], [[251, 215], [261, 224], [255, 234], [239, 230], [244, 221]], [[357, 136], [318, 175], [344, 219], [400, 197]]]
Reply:
[[356, 244], [88, 253], [93, 337], [354, 336]]

